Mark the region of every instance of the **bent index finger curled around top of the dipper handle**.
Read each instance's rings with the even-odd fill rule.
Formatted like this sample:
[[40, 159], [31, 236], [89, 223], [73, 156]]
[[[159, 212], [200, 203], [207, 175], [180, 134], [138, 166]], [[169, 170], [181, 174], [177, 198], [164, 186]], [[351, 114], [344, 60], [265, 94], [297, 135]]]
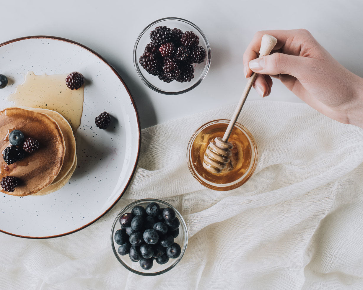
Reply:
[[249, 68], [248, 64], [252, 59], [258, 58], [258, 51], [260, 51], [261, 39], [264, 34], [270, 34], [277, 38], [277, 43], [273, 51], [276, 52], [276, 50], [279, 50], [279, 52], [285, 54], [299, 55], [303, 43], [301, 38], [306, 37], [307, 34], [310, 33], [305, 29], [261, 30], [256, 32], [243, 54], [243, 65], [246, 78], [249, 78], [252, 75], [252, 70]]

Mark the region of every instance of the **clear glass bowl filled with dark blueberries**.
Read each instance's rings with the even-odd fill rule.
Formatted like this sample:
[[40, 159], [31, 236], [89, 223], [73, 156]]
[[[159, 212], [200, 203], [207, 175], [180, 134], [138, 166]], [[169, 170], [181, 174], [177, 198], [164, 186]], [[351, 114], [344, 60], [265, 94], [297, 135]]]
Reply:
[[140, 199], [116, 217], [111, 245], [119, 262], [133, 273], [156, 276], [174, 268], [188, 244], [187, 225], [170, 204]]

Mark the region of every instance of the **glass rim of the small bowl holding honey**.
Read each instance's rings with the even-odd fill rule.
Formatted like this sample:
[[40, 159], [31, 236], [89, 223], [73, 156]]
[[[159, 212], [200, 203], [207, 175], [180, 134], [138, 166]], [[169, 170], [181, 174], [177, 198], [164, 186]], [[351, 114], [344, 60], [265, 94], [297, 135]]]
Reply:
[[208, 185], [207, 186], [206, 184], [203, 183], [204, 179], [202, 182], [202, 180], [199, 178], [199, 176], [193, 172], [195, 169], [194, 169], [194, 166], [192, 165], [189, 157], [190, 157], [190, 150], [192, 148], [192, 143], [193, 143], [195, 137], [197, 136], [197, 134], [200, 132], [201, 129], [208, 127], [212, 123], [217, 123], [217, 124], [218, 123], [227, 123], [228, 124], [229, 121], [230, 120], [228, 120], [228, 119], [215, 119], [215, 120], [208, 121], [207, 123], [204, 123], [198, 129], [195, 130], [195, 132], [193, 133], [192, 137], [190, 138], [190, 140], [188, 142], [188, 147], [187, 147], [187, 163], [188, 163], [189, 171], [191, 172], [193, 177], [196, 179], [196, 181], [198, 181], [201, 185], [203, 185], [204, 187], [216, 190], [216, 191], [227, 191], [227, 190], [232, 190], [232, 189], [242, 186], [244, 183], [246, 183], [248, 181], [248, 179], [250, 179], [250, 177], [256, 170], [257, 161], [258, 161], [258, 150], [257, 150], [256, 140], [254, 139], [252, 133], [246, 127], [244, 127], [242, 124], [236, 122], [236, 125], [238, 125], [238, 127], [240, 127], [239, 129], [241, 129], [242, 132], [244, 132], [246, 134], [246, 136], [250, 139], [250, 145], [252, 145], [251, 149], [254, 152], [253, 163], [252, 163], [252, 165], [249, 166], [250, 169], [249, 169], [248, 173], [246, 174], [246, 176], [244, 178], [241, 177], [240, 179], [237, 179], [236, 181], [231, 182], [232, 184], [226, 183], [225, 185], [220, 185], [220, 186], [210, 185], [209, 183], [205, 182]]

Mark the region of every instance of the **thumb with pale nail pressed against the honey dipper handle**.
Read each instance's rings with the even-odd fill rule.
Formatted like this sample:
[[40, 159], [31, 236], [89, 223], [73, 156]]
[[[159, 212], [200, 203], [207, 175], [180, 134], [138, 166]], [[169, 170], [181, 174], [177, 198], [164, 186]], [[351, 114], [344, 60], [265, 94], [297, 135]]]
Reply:
[[299, 79], [311, 67], [311, 58], [299, 57], [283, 53], [273, 53], [264, 57], [252, 59], [249, 67], [258, 74], [278, 75], [288, 74]]

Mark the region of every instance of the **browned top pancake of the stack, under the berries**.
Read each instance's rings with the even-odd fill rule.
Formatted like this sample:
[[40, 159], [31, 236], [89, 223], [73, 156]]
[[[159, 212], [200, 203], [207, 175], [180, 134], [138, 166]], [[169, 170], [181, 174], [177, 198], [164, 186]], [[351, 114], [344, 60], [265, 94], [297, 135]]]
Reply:
[[21, 130], [25, 138], [38, 140], [40, 148], [11, 165], [0, 158], [0, 179], [7, 175], [20, 179], [15, 191], [6, 192], [1, 188], [1, 192], [26, 196], [49, 186], [59, 174], [65, 155], [65, 142], [60, 127], [48, 115], [12, 107], [0, 111], [1, 152], [10, 145], [8, 134], [14, 129]]

